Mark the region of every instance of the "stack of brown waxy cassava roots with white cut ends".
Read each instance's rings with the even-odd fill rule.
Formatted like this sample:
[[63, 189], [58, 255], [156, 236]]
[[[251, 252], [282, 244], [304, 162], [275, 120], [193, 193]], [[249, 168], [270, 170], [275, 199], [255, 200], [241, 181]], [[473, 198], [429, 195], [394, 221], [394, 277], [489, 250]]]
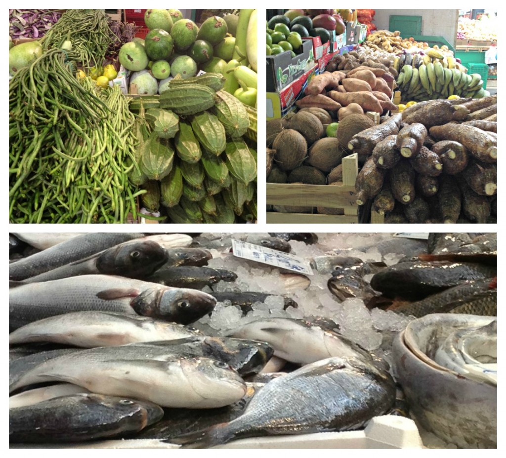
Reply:
[[495, 222], [497, 98], [420, 102], [357, 133], [357, 204], [385, 222]]

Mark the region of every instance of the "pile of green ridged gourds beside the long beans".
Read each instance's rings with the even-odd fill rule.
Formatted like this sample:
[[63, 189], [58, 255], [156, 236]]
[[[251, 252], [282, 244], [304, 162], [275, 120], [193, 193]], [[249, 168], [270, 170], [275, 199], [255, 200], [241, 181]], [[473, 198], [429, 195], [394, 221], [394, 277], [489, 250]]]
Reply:
[[139, 168], [130, 179], [148, 211], [161, 204], [176, 223], [257, 219], [257, 114], [224, 83], [217, 73], [176, 77], [159, 97], [132, 102]]

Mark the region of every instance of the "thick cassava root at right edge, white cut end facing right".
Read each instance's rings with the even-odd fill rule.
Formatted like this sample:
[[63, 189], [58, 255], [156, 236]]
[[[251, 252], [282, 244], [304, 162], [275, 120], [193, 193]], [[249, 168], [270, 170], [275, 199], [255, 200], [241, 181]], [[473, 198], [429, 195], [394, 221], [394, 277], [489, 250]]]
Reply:
[[461, 143], [477, 159], [486, 163], [497, 162], [497, 139], [489, 132], [464, 124], [445, 124], [430, 128], [432, 138]]

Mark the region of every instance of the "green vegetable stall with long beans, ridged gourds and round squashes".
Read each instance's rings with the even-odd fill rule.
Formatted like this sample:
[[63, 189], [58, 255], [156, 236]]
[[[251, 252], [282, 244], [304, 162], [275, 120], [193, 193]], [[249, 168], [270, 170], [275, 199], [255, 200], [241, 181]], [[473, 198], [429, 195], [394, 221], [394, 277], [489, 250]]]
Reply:
[[256, 222], [257, 11], [183, 11], [10, 10], [10, 222]]

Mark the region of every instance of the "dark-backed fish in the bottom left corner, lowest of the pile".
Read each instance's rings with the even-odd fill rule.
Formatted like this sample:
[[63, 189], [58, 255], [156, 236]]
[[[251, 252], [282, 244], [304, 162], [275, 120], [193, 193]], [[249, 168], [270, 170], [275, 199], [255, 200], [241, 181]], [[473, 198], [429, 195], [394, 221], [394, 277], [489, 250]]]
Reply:
[[9, 409], [9, 441], [76, 442], [122, 437], [163, 417], [151, 402], [100, 394], [73, 394]]

